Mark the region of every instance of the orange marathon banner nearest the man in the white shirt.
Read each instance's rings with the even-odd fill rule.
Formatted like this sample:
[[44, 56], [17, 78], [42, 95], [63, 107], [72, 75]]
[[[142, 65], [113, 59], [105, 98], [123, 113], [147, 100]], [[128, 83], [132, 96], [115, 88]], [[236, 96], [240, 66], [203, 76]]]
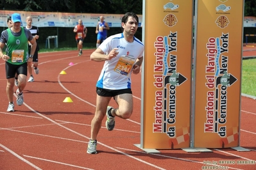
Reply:
[[189, 147], [192, 1], [144, 0], [142, 148]]

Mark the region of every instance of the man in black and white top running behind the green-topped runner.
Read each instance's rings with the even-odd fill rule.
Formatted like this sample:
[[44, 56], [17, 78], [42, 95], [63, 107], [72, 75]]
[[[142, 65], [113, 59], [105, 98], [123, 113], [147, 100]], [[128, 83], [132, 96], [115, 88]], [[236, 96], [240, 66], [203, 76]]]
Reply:
[[[30, 31], [30, 33], [33, 35], [33, 37], [35, 38], [35, 41], [38, 40], [39, 38], [39, 31], [38, 31], [38, 27], [36, 26], [32, 26], [32, 17], [28, 16], [26, 17], [26, 29], [28, 29]], [[30, 50], [31, 50], [31, 43], [28, 42], [28, 52], [30, 54]], [[31, 65], [31, 63], [28, 63], [28, 73], [30, 73], [30, 78], [28, 79], [28, 82], [33, 82], [34, 81], [34, 77], [33, 77], [33, 73], [32, 73], [32, 67], [34, 68], [34, 72], [36, 74], [39, 73], [39, 69], [38, 69], [38, 44], [37, 44], [37, 49], [35, 49], [35, 53], [33, 55], [33, 65]]]

